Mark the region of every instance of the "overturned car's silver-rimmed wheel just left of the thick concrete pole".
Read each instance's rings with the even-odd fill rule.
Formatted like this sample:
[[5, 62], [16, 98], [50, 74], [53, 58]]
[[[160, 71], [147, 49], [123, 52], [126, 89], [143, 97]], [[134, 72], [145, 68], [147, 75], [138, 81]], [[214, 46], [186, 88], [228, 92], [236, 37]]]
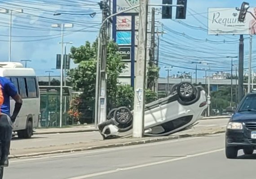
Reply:
[[128, 107], [119, 107], [114, 113], [115, 121], [121, 125], [127, 125], [132, 120], [132, 113]]

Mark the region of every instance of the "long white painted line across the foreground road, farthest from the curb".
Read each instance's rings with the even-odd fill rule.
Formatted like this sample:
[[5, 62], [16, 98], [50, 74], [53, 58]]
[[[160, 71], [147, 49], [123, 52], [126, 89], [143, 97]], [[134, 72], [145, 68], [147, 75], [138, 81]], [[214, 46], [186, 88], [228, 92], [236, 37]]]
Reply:
[[179, 161], [179, 160], [184, 160], [186, 158], [193, 158], [193, 157], [198, 157], [201, 155], [207, 155], [210, 153], [220, 152], [222, 150], [224, 150], [224, 149], [216, 149], [216, 150], [211, 150], [211, 151], [207, 151], [207, 152], [196, 153], [196, 154], [186, 156], [186, 157], [179, 157], [179, 158], [173, 158], [173, 159], [163, 160], [163, 161], [159, 161], [159, 162], [152, 162], [152, 163], [147, 163], [147, 164], [142, 164], [142, 165], [129, 166], [129, 167], [125, 167], [122, 169], [102, 171], [102, 172], [88, 174], [88, 175], [76, 176], [76, 177], [72, 177], [72, 178], [68, 178], [68, 179], [88, 179], [88, 178], [92, 178], [95, 176], [112, 174], [112, 173], [119, 172], [119, 171], [134, 170], [134, 169], [143, 168], [143, 167], [147, 167], [147, 166], [154, 166], [154, 165], [160, 165], [160, 164], [169, 163], [169, 162], [175, 162], [175, 161]]

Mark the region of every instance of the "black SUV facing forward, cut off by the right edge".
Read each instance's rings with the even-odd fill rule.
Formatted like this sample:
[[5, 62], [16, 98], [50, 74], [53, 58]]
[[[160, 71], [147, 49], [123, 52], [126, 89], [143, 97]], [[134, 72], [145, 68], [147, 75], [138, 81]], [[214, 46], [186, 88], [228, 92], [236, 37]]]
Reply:
[[226, 158], [237, 158], [238, 150], [252, 154], [256, 149], [256, 93], [247, 94], [236, 110], [227, 111], [234, 114], [227, 124], [225, 137]]

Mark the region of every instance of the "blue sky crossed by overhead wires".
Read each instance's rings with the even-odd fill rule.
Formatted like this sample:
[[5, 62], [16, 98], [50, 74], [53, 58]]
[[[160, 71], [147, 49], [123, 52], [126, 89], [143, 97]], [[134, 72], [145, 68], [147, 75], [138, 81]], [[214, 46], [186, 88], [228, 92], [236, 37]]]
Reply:
[[[34, 68], [36, 75], [47, 75], [45, 71], [56, 68], [56, 54], [61, 53], [61, 30], [51, 27], [56, 23], [73, 23], [73, 28], [65, 28], [64, 42], [67, 52], [71, 46], [79, 47], [85, 41], [93, 42], [98, 34], [101, 22], [99, 0], [0, 0], [0, 8], [23, 9], [23, 13], [13, 14], [11, 61], [32, 60], [28, 67]], [[173, 0], [176, 3], [176, 0]], [[177, 72], [194, 72], [195, 64], [191, 62], [207, 62], [198, 65], [198, 77], [204, 76], [202, 68], [230, 72], [231, 60], [226, 56], [238, 55], [239, 35], [208, 35], [208, 8], [240, 7], [242, 0], [188, 0], [186, 19], [161, 19], [157, 13], [156, 20], [163, 24], [166, 34], [160, 38], [159, 65], [160, 77], [166, 77], [164, 66], [172, 65], [171, 74]], [[255, 0], [247, 0], [251, 7]], [[159, 0], [150, 3], [159, 4]], [[95, 17], [75, 15], [74, 13], [96, 13]], [[54, 13], [71, 13], [53, 16]], [[10, 14], [0, 13], [0, 61], [8, 61], [9, 57], [9, 18]], [[159, 25], [159, 29], [162, 26]], [[248, 35], [244, 35], [244, 68], [248, 67]], [[255, 37], [252, 41], [252, 66], [256, 66]], [[234, 59], [238, 64], [238, 59]], [[75, 64], [71, 63], [71, 68]], [[51, 75], [59, 75], [59, 70]], [[256, 69], [255, 69], [256, 71]]]

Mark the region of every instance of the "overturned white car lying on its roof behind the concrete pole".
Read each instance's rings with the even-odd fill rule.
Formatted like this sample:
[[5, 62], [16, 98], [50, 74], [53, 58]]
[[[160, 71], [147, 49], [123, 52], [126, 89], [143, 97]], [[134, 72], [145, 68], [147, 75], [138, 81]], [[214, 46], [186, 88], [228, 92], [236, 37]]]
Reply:
[[[167, 136], [196, 124], [207, 108], [202, 86], [190, 82], [173, 85], [171, 95], [145, 105], [145, 136]], [[103, 139], [132, 134], [132, 111], [112, 109], [107, 121], [98, 125]]]

